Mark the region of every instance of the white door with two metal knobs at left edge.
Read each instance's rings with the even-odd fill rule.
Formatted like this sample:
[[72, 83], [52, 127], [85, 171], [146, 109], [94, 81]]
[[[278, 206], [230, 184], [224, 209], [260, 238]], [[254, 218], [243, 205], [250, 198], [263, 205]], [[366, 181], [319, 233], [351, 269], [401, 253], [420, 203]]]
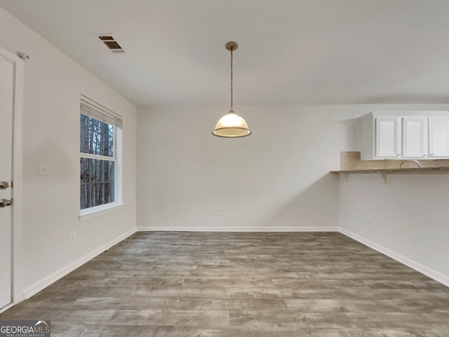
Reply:
[[0, 50], [0, 308], [12, 300], [14, 80], [15, 63]]

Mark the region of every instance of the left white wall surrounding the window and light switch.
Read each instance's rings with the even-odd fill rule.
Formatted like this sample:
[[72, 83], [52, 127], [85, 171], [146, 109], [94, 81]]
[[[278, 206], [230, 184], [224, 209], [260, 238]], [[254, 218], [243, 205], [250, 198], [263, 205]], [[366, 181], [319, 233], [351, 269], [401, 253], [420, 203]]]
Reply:
[[[136, 108], [0, 8], [0, 46], [23, 51], [23, 269], [27, 296], [135, 230]], [[80, 222], [80, 94], [123, 116], [122, 209]], [[39, 176], [39, 162], [48, 175]], [[69, 243], [69, 233], [76, 242]]]

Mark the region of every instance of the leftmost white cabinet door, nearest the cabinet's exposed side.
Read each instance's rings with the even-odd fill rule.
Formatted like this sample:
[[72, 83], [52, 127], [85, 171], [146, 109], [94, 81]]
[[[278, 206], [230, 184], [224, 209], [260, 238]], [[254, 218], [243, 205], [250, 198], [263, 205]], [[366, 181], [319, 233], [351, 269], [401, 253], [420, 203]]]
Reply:
[[375, 119], [375, 157], [397, 158], [401, 148], [399, 118], [377, 117]]

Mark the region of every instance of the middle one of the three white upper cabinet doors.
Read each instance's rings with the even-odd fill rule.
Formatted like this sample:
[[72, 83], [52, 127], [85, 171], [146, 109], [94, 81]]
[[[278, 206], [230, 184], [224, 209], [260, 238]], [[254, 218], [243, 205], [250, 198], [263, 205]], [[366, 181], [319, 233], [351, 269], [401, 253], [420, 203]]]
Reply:
[[427, 157], [427, 117], [403, 117], [401, 157]]

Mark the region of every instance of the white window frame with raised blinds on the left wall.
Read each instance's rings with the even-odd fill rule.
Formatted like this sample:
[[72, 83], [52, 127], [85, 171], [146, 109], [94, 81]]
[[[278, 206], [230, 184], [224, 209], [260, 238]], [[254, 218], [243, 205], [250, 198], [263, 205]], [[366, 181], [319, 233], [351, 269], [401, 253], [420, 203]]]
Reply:
[[[100, 216], [104, 213], [109, 213], [115, 209], [120, 209], [123, 206], [121, 192], [122, 192], [122, 174], [121, 174], [121, 157], [122, 157], [122, 117], [112, 110], [107, 109], [103, 105], [96, 103], [95, 101], [81, 95], [81, 114], [88, 117], [97, 119], [106, 124], [114, 126], [114, 157], [105, 157], [98, 154], [88, 154], [80, 151], [80, 159], [101, 159], [107, 161], [114, 161], [114, 195], [115, 201], [108, 204], [102, 204], [99, 206], [89, 207], [88, 209], [80, 209], [79, 220], [87, 220], [88, 218], [93, 218], [95, 216]], [[81, 116], [80, 114], [80, 116]], [[81, 127], [80, 127], [81, 129]], [[81, 137], [81, 132], [80, 132]], [[81, 187], [81, 180], [80, 180]], [[79, 189], [81, 194], [81, 188]], [[81, 199], [81, 198], [79, 198]], [[81, 205], [80, 205], [81, 208]]]

